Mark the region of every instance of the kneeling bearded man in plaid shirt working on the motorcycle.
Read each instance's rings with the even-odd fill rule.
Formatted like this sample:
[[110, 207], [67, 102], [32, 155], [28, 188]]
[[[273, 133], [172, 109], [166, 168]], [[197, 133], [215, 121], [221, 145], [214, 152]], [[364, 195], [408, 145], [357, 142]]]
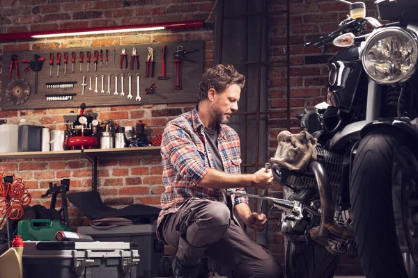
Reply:
[[[202, 257], [226, 277], [283, 277], [271, 254], [241, 229], [237, 215], [256, 231], [267, 218], [251, 213], [245, 187], [265, 189], [271, 170], [240, 174], [240, 139], [226, 126], [238, 111], [245, 77], [232, 65], [208, 68], [199, 83], [199, 105], [169, 122], [162, 135], [165, 191], [157, 234], [178, 250], [175, 277], [195, 277]], [[231, 188], [231, 195], [226, 189]], [[200, 278], [200, 277], [199, 277]]]

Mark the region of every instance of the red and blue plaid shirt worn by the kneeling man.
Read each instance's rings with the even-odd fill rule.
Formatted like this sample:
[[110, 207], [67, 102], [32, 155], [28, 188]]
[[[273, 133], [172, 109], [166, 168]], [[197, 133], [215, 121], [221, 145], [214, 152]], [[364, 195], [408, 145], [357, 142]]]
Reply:
[[[224, 172], [240, 174], [240, 138], [231, 127], [225, 124], [220, 126], [218, 149]], [[215, 161], [205, 143], [204, 129], [205, 126], [197, 114], [197, 107], [172, 120], [164, 129], [161, 156], [165, 191], [161, 195], [162, 210], [157, 225], [160, 225], [164, 215], [178, 211], [187, 199], [225, 201], [221, 190], [197, 185], [210, 168], [215, 168]], [[234, 192], [245, 192], [244, 188], [231, 189]], [[248, 197], [231, 194], [231, 201], [233, 206], [240, 203], [248, 204]]]

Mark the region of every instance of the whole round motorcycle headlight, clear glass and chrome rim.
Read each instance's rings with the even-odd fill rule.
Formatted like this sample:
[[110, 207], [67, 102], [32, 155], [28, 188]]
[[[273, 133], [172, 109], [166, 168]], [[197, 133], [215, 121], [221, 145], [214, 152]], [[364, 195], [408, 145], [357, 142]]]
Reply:
[[380, 84], [403, 82], [415, 72], [417, 38], [398, 27], [382, 28], [370, 35], [362, 51], [364, 70]]

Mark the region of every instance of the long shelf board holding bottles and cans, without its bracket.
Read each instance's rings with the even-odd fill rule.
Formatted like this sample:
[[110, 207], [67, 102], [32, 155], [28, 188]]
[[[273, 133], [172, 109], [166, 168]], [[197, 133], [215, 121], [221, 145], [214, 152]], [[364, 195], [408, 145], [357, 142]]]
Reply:
[[[109, 154], [155, 154], [160, 152], [160, 147], [125, 147], [121, 149], [84, 149], [88, 156], [102, 156]], [[82, 150], [54, 151], [54, 152], [3, 152], [0, 159], [4, 158], [47, 158], [60, 156], [82, 156]]]

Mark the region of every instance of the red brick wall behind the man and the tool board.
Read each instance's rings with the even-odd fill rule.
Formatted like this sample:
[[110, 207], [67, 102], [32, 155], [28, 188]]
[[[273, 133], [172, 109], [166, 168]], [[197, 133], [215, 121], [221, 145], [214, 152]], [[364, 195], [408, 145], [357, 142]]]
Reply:
[[[369, 10], [373, 1], [366, 1]], [[65, 0], [2, 0], [0, 31], [14, 33], [47, 31], [117, 24], [141, 24], [148, 22], [174, 22], [180, 20], [206, 19], [215, 1], [210, 0], [137, 0], [137, 1], [65, 1]], [[270, 11], [286, 9], [286, 0], [270, 0]], [[339, 21], [346, 17], [346, 6], [333, 1], [291, 0], [291, 129], [297, 131], [295, 115], [303, 108], [310, 108], [323, 101], [327, 69], [324, 63], [307, 64], [311, 56], [332, 54], [336, 49], [309, 49], [303, 43], [320, 34], [333, 31]], [[369, 15], [374, 16], [371, 10]], [[211, 21], [214, 19], [211, 17]], [[67, 47], [111, 47], [119, 44], [150, 42], [205, 41], [205, 67], [214, 61], [214, 31], [202, 28], [190, 31], [157, 31], [139, 35], [107, 35], [104, 37], [69, 38], [60, 40], [36, 40], [0, 44], [4, 51], [60, 49]], [[268, 149], [274, 153], [277, 134], [286, 128], [286, 14], [272, 15], [269, 29], [269, 54], [273, 63], [269, 72], [269, 108], [277, 113], [269, 119]], [[7, 69], [6, 69], [7, 70]], [[4, 85], [4, 84], [3, 84]], [[193, 104], [169, 104], [146, 106], [111, 106], [92, 108], [100, 120], [112, 118], [123, 125], [144, 120], [148, 136], [162, 133], [164, 125], [176, 115], [189, 111]], [[24, 111], [0, 111], [0, 118], [17, 122], [21, 117], [38, 120], [51, 129], [63, 124], [63, 114], [71, 109], [41, 109]], [[160, 156], [126, 156], [100, 159], [98, 190], [106, 204], [160, 204], [162, 193]], [[49, 204], [40, 199], [49, 181], [71, 179], [71, 191], [91, 189], [91, 163], [84, 158], [42, 158], [4, 160], [0, 170], [16, 173], [31, 189], [33, 204]], [[281, 190], [275, 188], [277, 193]], [[70, 224], [76, 227], [86, 224], [82, 213], [70, 206]], [[283, 237], [277, 230], [279, 213], [272, 213], [270, 221], [270, 249], [283, 259]], [[357, 261], [343, 258], [340, 272], [359, 272], [353, 268]]]

